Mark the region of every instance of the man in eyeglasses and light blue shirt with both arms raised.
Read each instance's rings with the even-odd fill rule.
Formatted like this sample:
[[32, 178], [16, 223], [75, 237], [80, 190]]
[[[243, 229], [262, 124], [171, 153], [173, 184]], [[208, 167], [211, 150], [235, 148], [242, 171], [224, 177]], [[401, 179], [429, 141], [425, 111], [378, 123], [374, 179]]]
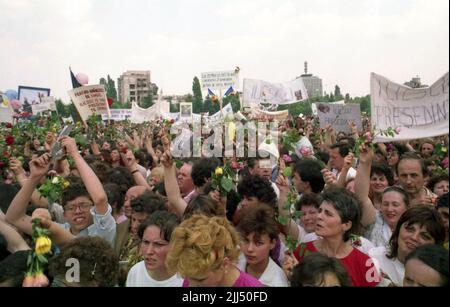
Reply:
[[[100, 236], [113, 244], [116, 233], [116, 222], [112, 216], [111, 206], [103, 186], [78, 152], [73, 138], [64, 136], [60, 140], [61, 147], [72, 157], [80, 173], [82, 182], [72, 182], [64, 190], [61, 205], [64, 208], [66, 223], [58, 224], [76, 237]], [[12, 201], [6, 219], [21, 231], [31, 235], [31, 217], [26, 215], [28, 202], [38, 183], [47, 174], [50, 156], [44, 154], [30, 162], [30, 177]]]

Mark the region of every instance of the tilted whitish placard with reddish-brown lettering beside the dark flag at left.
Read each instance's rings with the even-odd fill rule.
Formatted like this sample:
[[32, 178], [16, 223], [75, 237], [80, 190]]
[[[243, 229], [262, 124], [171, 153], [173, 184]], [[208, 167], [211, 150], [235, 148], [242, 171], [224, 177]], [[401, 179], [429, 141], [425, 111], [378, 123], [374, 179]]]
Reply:
[[82, 86], [68, 93], [83, 121], [93, 114], [110, 116], [104, 85]]

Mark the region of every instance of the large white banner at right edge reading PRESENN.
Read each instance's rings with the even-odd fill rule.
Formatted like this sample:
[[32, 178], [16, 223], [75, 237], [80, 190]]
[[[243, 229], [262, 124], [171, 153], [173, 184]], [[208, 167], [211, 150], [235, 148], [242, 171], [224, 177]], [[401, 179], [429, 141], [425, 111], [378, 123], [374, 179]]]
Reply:
[[377, 136], [378, 142], [420, 139], [448, 134], [448, 72], [426, 88], [410, 88], [371, 74], [372, 126], [400, 127], [394, 138]]

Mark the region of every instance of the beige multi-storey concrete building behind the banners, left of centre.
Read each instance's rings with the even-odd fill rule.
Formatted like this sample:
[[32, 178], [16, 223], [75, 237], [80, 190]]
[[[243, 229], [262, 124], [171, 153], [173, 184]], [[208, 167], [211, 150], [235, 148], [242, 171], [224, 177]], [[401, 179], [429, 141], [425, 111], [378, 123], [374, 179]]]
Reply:
[[119, 100], [122, 103], [135, 101], [138, 104], [152, 90], [149, 70], [129, 70], [117, 79]]

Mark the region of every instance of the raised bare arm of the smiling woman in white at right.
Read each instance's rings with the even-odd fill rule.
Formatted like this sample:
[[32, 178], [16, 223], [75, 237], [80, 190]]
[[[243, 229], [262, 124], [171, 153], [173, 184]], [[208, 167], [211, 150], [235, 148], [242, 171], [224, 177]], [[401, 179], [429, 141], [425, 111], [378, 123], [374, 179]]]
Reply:
[[372, 225], [375, 222], [376, 217], [376, 209], [369, 198], [372, 158], [372, 148], [361, 145], [359, 165], [355, 177], [355, 194], [361, 202], [361, 225], [363, 227]]

